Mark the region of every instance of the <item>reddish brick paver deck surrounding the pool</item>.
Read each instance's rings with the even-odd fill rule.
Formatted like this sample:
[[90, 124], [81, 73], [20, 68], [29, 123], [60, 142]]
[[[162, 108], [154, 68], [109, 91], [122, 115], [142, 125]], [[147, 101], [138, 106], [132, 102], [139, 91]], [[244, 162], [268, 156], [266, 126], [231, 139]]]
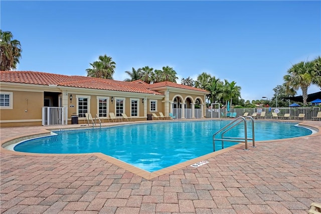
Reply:
[[[1, 139], [24, 130], [39, 127], [1, 128]], [[1, 213], [306, 213], [321, 202], [320, 136], [258, 142], [151, 180], [95, 155], [3, 149]]]

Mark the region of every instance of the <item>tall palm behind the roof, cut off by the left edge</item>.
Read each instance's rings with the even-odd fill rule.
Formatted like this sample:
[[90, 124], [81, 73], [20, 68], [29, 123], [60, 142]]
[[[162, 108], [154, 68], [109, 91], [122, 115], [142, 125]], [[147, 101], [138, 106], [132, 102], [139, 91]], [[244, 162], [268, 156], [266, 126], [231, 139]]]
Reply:
[[12, 40], [13, 37], [11, 32], [0, 30], [1, 71], [14, 70], [19, 64], [21, 44], [18, 40]]

